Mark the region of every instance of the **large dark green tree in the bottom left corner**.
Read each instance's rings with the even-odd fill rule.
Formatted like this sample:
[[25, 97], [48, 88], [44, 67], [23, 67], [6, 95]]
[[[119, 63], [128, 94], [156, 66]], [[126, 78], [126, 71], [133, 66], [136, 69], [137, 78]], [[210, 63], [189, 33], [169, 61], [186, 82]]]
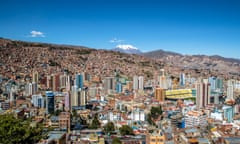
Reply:
[[31, 144], [44, 138], [40, 125], [31, 127], [29, 121], [15, 118], [11, 114], [0, 115], [0, 143]]

